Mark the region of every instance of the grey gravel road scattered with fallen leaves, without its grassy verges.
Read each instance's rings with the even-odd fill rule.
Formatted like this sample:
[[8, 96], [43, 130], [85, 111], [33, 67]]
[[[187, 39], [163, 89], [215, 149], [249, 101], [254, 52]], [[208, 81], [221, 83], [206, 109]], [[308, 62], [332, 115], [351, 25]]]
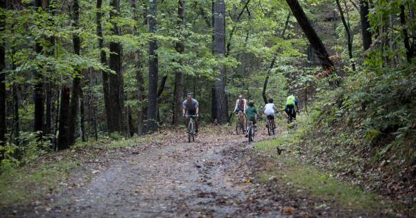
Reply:
[[[265, 137], [265, 136], [261, 136]], [[241, 159], [246, 138], [177, 134], [169, 143], [137, 145], [86, 165], [55, 199], [24, 217], [281, 217], [274, 202], [248, 203], [256, 185]], [[257, 138], [258, 140], [258, 138]]]

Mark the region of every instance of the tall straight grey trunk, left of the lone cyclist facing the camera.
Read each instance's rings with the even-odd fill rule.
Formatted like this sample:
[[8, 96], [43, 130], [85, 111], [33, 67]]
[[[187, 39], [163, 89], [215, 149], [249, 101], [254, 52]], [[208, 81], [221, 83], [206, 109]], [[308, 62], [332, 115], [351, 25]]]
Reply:
[[[150, 0], [149, 32], [157, 32], [157, 0]], [[157, 129], [157, 80], [159, 69], [156, 51], [157, 40], [152, 39], [149, 45], [148, 131]]]

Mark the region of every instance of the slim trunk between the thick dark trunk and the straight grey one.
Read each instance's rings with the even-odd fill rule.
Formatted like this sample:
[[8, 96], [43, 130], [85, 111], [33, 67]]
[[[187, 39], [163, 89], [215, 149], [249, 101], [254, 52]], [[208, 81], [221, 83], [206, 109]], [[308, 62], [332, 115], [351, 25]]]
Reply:
[[[137, 17], [137, 6], [135, 0], [130, 0], [130, 6], [132, 7], [132, 19], [139, 23], [139, 17]], [[134, 26], [132, 29], [133, 35], [137, 35], [137, 26]], [[137, 80], [137, 100], [139, 100], [139, 113], [137, 114], [137, 134], [139, 136], [143, 134], [143, 94], [144, 94], [144, 79], [143, 79], [143, 65], [144, 65], [144, 55], [141, 52], [140, 48], [137, 48], [135, 51], [135, 71], [136, 71], [136, 80]]]

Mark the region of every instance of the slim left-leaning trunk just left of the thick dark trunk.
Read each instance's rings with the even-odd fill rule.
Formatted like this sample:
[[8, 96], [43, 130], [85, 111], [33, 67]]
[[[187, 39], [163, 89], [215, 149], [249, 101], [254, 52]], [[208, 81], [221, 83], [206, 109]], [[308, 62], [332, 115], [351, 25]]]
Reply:
[[[107, 66], [107, 55], [104, 51], [104, 38], [103, 38], [103, 0], [97, 0], [96, 3], [96, 25], [97, 25], [97, 37], [98, 37], [98, 48], [100, 49], [100, 63], [103, 66]], [[110, 93], [108, 91], [108, 72], [107, 70], [101, 69], [101, 75], [103, 78], [103, 96], [104, 96], [104, 107], [105, 107], [105, 115], [107, 116], [107, 129], [110, 129], [112, 125], [110, 116], [112, 116], [111, 112], [111, 102], [110, 102]], [[110, 131], [110, 130], [109, 130]]]

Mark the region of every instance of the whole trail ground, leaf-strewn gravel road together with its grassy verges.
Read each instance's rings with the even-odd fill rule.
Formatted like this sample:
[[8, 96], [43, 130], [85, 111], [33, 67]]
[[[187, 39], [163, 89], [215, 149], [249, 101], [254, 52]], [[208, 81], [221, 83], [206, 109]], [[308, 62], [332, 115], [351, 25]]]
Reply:
[[302, 165], [282, 145], [291, 134], [257, 133], [261, 142], [249, 144], [231, 127], [202, 127], [187, 143], [176, 129], [116, 149], [55, 154], [45, 163], [76, 160], [64, 180], [9, 188], [0, 217], [406, 217], [395, 203]]

